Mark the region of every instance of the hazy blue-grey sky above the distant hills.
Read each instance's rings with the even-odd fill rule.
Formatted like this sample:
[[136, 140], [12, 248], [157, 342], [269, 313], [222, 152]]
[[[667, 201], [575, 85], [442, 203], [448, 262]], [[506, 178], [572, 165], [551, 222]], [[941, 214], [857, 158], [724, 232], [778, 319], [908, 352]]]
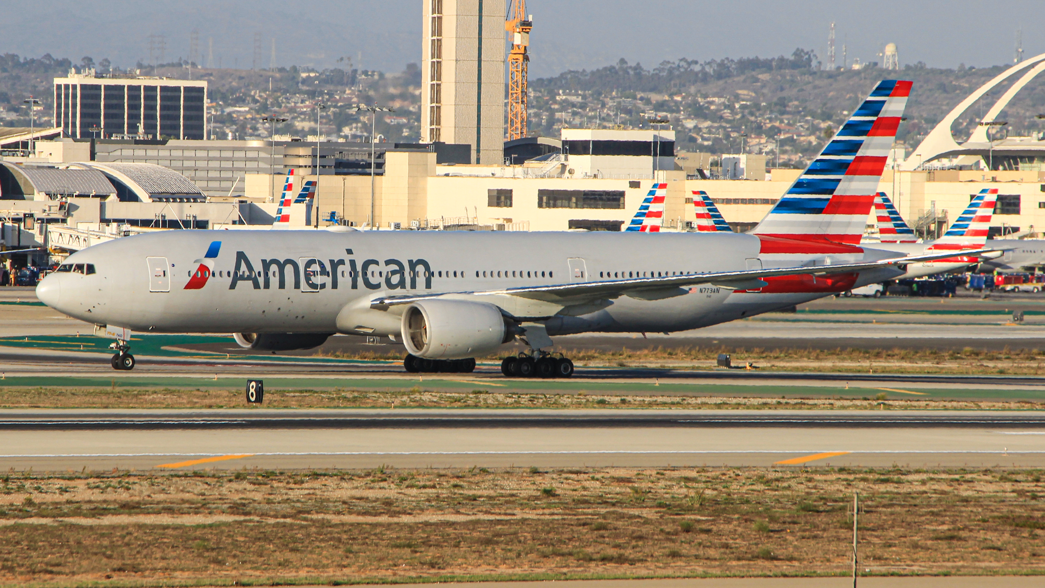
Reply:
[[[49, 52], [74, 63], [90, 55], [133, 67], [148, 61], [150, 36], [163, 36], [164, 61], [188, 58], [194, 29], [205, 66], [212, 46], [215, 67], [252, 67], [257, 39], [256, 65], [266, 68], [275, 38], [277, 66], [322, 69], [350, 58], [352, 67], [400, 71], [420, 61], [421, 6], [421, 0], [0, 0], [0, 52]], [[679, 58], [775, 56], [796, 47], [827, 61], [832, 21], [839, 65], [843, 44], [850, 61], [866, 62], [880, 61], [890, 42], [901, 65], [1012, 64], [1018, 27], [1024, 56], [1045, 52], [1041, 0], [529, 0], [527, 12], [534, 20], [531, 77], [621, 58], [649, 68]]]

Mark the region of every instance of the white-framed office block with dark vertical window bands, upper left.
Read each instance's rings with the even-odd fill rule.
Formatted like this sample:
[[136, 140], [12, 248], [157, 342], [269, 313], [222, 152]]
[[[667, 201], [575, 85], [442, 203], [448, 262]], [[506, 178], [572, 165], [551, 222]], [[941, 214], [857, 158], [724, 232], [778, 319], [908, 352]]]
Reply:
[[67, 137], [204, 139], [206, 122], [207, 82], [93, 70], [54, 78], [54, 127]]

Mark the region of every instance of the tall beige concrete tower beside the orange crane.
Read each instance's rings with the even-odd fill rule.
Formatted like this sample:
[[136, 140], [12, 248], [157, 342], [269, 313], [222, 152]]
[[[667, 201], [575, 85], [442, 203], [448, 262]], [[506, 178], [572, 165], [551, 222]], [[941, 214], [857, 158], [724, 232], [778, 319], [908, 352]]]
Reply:
[[421, 140], [471, 145], [504, 162], [505, 2], [423, 0]]

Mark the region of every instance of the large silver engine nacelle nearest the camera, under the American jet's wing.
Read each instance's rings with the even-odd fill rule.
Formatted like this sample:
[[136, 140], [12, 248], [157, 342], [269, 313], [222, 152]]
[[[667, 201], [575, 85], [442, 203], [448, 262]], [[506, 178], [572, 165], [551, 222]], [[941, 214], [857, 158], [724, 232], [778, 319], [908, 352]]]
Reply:
[[432, 299], [402, 313], [402, 342], [425, 359], [467, 359], [493, 353], [515, 337], [501, 309], [487, 302]]

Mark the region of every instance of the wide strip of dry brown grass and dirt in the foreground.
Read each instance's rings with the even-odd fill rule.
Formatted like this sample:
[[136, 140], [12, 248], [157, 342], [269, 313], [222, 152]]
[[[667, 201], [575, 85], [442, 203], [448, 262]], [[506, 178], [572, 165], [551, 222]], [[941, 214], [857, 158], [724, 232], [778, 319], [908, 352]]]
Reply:
[[0, 477], [0, 583], [1045, 574], [1037, 470], [70, 472]]

